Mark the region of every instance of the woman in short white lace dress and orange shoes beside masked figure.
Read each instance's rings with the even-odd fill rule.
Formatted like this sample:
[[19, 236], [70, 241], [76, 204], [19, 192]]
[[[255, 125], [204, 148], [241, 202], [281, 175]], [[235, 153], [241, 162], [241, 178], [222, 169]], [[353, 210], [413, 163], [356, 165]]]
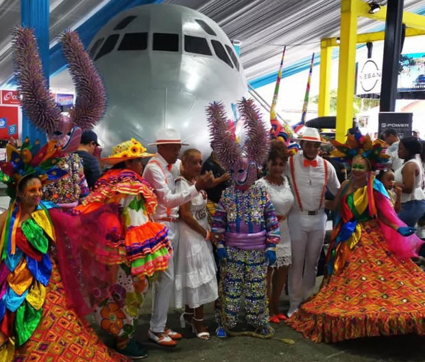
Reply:
[[257, 182], [262, 183], [269, 192], [271, 202], [276, 208], [280, 228], [280, 242], [276, 245], [276, 264], [267, 269], [267, 297], [269, 298], [270, 322], [279, 323], [287, 317], [279, 310], [280, 295], [287, 281], [291, 265], [291, 238], [287, 215], [294, 202], [291, 187], [283, 175], [287, 165], [287, 147], [284, 143], [273, 141], [267, 159], [268, 174]]

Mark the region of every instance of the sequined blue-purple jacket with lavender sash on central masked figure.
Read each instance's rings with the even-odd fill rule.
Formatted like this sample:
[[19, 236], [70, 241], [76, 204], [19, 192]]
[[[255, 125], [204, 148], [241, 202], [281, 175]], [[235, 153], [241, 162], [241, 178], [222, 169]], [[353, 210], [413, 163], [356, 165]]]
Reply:
[[221, 195], [212, 231], [224, 235], [227, 246], [243, 250], [265, 249], [280, 241], [276, 211], [262, 184], [246, 191], [230, 186]]

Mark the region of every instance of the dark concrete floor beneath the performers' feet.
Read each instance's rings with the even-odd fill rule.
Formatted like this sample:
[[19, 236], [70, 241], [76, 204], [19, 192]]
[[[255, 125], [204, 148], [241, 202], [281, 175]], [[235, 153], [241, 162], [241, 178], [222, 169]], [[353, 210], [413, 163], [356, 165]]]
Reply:
[[[319, 285], [320, 278], [317, 278]], [[287, 298], [282, 298], [282, 311], [288, 309]], [[337, 344], [313, 343], [304, 339], [284, 323], [273, 324], [276, 337], [293, 339], [294, 345], [288, 345], [276, 340], [263, 340], [254, 337], [229, 337], [218, 339], [211, 337], [209, 341], [202, 341], [191, 333], [190, 328], [180, 328], [178, 311], [170, 309], [167, 325], [182, 333], [184, 338], [175, 348], [164, 348], [147, 340], [151, 310], [151, 292], [149, 291], [143, 313], [136, 332], [136, 339], [149, 350], [147, 361], [186, 361], [186, 362], [239, 362], [239, 361], [267, 361], [267, 362], [372, 362], [372, 361], [425, 361], [425, 337], [406, 335], [397, 337], [373, 337], [352, 339]], [[206, 308], [206, 324], [212, 335], [215, 331], [213, 321], [213, 306]], [[109, 337], [104, 337], [110, 345]]]

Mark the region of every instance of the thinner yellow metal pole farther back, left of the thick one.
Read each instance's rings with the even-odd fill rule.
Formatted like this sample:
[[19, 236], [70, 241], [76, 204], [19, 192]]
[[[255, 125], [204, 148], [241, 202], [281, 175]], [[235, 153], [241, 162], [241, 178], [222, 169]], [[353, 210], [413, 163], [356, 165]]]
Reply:
[[319, 117], [329, 115], [331, 65], [332, 47], [323, 39], [320, 42]]

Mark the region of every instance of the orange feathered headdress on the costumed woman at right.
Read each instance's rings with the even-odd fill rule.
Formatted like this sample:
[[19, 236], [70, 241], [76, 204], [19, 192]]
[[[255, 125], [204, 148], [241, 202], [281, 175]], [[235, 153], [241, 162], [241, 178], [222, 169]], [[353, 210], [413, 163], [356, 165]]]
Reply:
[[359, 128], [352, 130], [348, 134], [345, 143], [335, 140], [330, 140], [330, 143], [335, 147], [330, 156], [350, 165], [355, 156], [362, 156], [369, 160], [372, 169], [380, 169], [385, 166], [385, 163], [390, 158], [389, 154], [385, 154], [385, 150], [388, 147], [385, 141], [381, 139], [372, 141], [369, 134], [363, 136]]

